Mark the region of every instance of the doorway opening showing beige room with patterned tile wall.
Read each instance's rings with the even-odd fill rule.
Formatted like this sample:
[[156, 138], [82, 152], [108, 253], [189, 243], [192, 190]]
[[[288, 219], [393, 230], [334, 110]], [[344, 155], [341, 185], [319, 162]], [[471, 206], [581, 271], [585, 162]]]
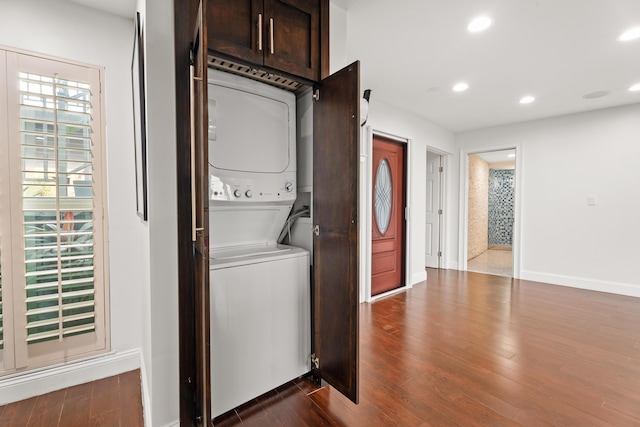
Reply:
[[518, 277], [518, 150], [464, 153], [462, 270]]

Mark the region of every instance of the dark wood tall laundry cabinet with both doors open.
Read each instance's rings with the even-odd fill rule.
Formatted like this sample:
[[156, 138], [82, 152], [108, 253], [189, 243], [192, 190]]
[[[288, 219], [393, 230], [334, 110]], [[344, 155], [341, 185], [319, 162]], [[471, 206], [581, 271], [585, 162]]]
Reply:
[[329, 0], [174, 0], [174, 12], [181, 425], [211, 425], [216, 386], [206, 64], [281, 87], [294, 81], [287, 88], [298, 96], [313, 91], [312, 374], [357, 402], [360, 64], [329, 76]]

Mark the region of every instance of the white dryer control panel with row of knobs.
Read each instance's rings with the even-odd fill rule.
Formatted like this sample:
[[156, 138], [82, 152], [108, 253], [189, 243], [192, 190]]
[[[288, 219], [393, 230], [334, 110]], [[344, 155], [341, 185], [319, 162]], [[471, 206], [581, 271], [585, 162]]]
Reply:
[[274, 202], [296, 199], [295, 172], [255, 178], [209, 175], [209, 200]]

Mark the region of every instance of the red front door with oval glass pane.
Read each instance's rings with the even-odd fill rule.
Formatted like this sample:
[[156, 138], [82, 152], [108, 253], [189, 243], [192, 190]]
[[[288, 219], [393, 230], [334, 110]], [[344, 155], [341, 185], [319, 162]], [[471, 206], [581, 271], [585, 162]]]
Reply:
[[373, 136], [371, 295], [404, 281], [404, 144]]

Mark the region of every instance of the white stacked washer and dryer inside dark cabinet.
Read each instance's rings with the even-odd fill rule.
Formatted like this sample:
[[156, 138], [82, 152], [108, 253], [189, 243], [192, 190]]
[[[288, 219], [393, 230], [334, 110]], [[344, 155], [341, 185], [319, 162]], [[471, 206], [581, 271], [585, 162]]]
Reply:
[[209, 70], [212, 415], [310, 370], [309, 253], [277, 243], [296, 200], [296, 99]]

